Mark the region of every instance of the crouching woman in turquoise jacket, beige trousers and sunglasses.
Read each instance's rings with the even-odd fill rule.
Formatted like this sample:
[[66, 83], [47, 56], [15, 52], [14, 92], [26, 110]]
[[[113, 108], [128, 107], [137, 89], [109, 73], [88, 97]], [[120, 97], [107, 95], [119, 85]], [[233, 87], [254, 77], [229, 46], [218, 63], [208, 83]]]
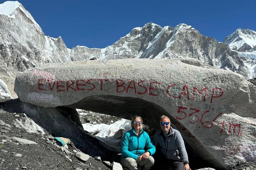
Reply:
[[[152, 144], [147, 132], [142, 129], [143, 120], [140, 116], [132, 118], [132, 128], [122, 138], [121, 165], [129, 170], [148, 170], [154, 164], [155, 146]], [[147, 151], [144, 148], [147, 148]]]

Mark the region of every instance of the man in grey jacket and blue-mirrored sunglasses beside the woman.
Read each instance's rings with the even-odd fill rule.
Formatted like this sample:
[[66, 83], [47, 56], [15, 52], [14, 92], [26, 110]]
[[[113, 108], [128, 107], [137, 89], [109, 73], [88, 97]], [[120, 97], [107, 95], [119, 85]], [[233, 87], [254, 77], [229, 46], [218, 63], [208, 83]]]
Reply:
[[157, 131], [153, 137], [153, 145], [160, 148], [161, 154], [164, 155], [161, 168], [163, 170], [190, 170], [188, 154], [184, 145], [183, 138], [178, 130], [171, 127], [170, 118], [165, 115], [160, 117], [161, 130]]

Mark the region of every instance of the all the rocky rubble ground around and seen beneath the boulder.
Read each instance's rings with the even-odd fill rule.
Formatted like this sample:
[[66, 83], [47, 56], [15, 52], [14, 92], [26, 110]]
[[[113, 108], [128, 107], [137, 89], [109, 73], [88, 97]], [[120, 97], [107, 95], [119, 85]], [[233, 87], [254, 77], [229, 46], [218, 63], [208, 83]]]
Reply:
[[[82, 123], [111, 124], [120, 118], [88, 112], [80, 119]], [[29, 125], [31, 129], [24, 125]], [[113, 164], [116, 164], [103, 162], [99, 157], [89, 155], [85, 160], [72, 141], [66, 145], [67, 147], [61, 147], [54, 137], [60, 136], [52, 136], [42, 130], [33, 120], [26, 117], [25, 113], [9, 113], [0, 109], [0, 169], [112, 170]], [[233, 167], [232, 170], [256, 170], [256, 165], [246, 162]]]

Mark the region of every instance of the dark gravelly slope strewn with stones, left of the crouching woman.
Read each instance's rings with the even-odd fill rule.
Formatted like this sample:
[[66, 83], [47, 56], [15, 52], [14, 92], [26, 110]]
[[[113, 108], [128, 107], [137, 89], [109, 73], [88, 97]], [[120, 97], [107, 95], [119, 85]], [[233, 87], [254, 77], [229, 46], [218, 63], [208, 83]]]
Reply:
[[[111, 170], [111, 165], [90, 156], [86, 161], [75, 155], [81, 152], [73, 144], [67, 148], [54, 142], [54, 137], [44, 130], [28, 132], [17, 126], [17, 121], [31, 121], [24, 113], [0, 110], [0, 169], [1, 170]], [[4, 122], [4, 123], [3, 123]], [[33, 123], [31, 125], [35, 125]], [[22, 138], [37, 144], [24, 144], [13, 138]]]

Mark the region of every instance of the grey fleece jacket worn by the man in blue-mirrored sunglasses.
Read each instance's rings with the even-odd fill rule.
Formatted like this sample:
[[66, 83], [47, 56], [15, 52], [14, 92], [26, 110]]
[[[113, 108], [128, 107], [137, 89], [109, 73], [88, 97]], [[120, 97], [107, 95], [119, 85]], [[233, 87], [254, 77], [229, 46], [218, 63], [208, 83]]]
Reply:
[[153, 145], [159, 144], [161, 152], [167, 159], [181, 160], [182, 162], [188, 162], [188, 154], [186, 152], [185, 144], [181, 133], [178, 130], [170, 127], [170, 132], [165, 138], [163, 131], [159, 130], [153, 138]]

